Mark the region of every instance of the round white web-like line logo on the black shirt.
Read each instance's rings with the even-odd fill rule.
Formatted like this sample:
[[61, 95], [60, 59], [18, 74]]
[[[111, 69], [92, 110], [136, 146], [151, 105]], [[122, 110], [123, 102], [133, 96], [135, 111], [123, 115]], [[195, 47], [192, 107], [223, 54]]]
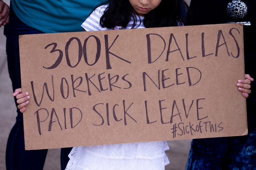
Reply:
[[233, 0], [227, 5], [227, 13], [229, 17], [234, 19], [243, 18], [247, 13], [247, 6], [244, 2], [240, 0]]

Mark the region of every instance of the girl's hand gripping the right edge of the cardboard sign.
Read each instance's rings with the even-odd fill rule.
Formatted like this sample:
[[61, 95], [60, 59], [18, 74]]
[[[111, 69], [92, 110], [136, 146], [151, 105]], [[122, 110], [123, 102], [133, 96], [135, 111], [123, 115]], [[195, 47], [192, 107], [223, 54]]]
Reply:
[[237, 87], [238, 90], [242, 92], [242, 95], [247, 98], [249, 97], [249, 94], [251, 93], [251, 81], [253, 81], [254, 79], [251, 78], [251, 76], [249, 74], [245, 75], [245, 79], [244, 80], [238, 80], [237, 82]]

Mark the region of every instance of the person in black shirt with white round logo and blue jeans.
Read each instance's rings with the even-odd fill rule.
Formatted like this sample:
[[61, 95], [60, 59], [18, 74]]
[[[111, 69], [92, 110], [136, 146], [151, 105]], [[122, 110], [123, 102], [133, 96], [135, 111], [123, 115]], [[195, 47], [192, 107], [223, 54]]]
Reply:
[[[255, 7], [256, 2], [250, 0], [192, 0], [192, 22], [189, 24], [242, 23], [245, 72], [250, 73], [252, 77], [256, 77]], [[255, 81], [251, 82], [251, 87], [256, 87]], [[245, 97], [248, 97], [248, 94]], [[246, 99], [248, 136], [193, 139], [186, 169], [256, 169], [255, 104], [256, 94], [252, 91]]]

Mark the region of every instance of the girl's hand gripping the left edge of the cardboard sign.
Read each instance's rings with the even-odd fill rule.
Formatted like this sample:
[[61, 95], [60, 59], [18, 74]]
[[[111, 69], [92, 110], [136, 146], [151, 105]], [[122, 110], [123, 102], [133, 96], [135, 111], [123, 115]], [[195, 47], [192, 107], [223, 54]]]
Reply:
[[23, 113], [29, 103], [28, 100], [30, 99], [30, 96], [28, 95], [28, 92], [21, 93], [21, 88], [15, 89], [14, 93], [12, 94], [13, 97], [16, 96], [17, 103], [19, 104], [17, 107], [21, 113]]

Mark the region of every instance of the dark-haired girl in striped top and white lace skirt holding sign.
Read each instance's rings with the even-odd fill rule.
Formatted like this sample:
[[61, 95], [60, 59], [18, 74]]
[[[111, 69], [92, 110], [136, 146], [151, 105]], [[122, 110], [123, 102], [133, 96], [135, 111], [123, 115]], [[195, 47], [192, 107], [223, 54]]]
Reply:
[[[96, 6], [81, 26], [85, 31], [179, 26], [184, 23], [182, 6], [188, 10], [184, 0], [109, 0]], [[252, 80], [247, 77], [239, 80], [245, 97]], [[28, 94], [19, 93], [21, 89], [16, 89], [13, 96], [24, 112]], [[168, 149], [166, 141], [74, 147], [66, 169], [164, 169], [169, 164]]]

